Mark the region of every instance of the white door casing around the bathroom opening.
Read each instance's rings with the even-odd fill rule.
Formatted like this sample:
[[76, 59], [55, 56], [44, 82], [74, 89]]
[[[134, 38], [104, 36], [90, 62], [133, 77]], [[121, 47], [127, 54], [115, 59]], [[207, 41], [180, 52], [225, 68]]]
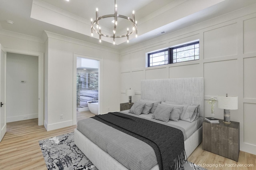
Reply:
[[83, 55], [83, 54], [78, 54], [78, 53], [74, 53], [73, 55], [73, 125], [76, 125], [76, 75], [77, 75], [77, 71], [76, 71], [76, 60], [77, 57], [82, 57], [82, 58], [86, 58], [86, 59], [94, 59], [99, 61], [99, 79], [98, 79], [98, 101], [99, 101], [99, 105], [98, 105], [98, 115], [102, 115], [102, 82], [103, 82], [103, 59], [102, 58], [98, 58], [98, 57], [93, 57], [93, 56], [88, 56], [88, 55]]

